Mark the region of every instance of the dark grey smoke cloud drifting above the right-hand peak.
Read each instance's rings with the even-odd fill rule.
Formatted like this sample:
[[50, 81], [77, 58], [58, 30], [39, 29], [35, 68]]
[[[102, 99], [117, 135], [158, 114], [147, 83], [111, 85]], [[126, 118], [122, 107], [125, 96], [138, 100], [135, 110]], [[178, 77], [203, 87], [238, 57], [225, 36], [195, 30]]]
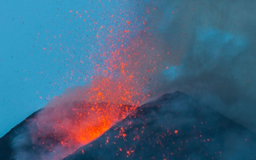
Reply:
[[148, 17], [164, 70], [161, 95], [182, 91], [256, 131], [256, 1], [161, 1]]

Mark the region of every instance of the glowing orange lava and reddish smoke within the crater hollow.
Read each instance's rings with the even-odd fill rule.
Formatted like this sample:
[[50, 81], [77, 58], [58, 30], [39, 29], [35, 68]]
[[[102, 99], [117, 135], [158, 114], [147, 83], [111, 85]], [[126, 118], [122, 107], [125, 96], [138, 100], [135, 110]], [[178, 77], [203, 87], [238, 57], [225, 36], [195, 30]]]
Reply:
[[31, 122], [32, 143], [52, 152], [54, 159], [63, 158], [98, 138], [134, 110], [130, 105], [86, 101], [47, 107]]

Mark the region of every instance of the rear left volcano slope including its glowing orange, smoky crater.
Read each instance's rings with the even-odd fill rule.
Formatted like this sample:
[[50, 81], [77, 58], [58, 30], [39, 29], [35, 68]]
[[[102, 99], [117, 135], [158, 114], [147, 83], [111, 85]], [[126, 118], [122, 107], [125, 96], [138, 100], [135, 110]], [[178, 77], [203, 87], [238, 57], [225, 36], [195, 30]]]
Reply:
[[45, 107], [0, 138], [0, 160], [62, 159], [134, 109], [130, 105], [84, 100]]

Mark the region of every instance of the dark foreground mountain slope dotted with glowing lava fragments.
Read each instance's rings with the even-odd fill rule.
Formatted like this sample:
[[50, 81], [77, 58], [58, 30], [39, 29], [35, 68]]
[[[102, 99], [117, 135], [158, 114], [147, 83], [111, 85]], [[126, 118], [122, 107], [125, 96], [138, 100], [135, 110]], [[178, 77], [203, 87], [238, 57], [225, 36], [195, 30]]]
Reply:
[[184, 93], [139, 107], [65, 160], [251, 160], [256, 134]]

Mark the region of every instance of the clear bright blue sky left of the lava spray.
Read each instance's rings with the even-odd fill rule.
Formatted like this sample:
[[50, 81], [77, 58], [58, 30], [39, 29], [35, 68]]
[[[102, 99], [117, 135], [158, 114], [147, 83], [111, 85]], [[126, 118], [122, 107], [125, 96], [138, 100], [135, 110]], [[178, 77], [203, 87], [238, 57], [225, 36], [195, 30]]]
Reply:
[[109, 17], [117, 7], [125, 9], [129, 4], [1, 0], [0, 6], [2, 136], [49, 99], [89, 83], [92, 64], [86, 58], [99, 49], [93, 28], [103, 25], [117, 29], [115, 17]]

